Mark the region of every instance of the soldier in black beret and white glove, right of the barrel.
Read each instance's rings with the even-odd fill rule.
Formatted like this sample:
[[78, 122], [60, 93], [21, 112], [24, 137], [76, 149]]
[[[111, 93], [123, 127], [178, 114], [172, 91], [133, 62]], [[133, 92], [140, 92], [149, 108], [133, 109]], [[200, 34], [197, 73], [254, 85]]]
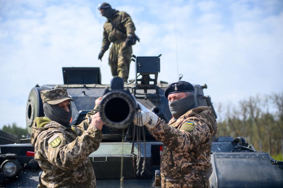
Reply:
[[[139, 126], [163, 142], [160, 173], [162, 187], [209, 187], [210, 152], [217, 132], [211, 107], [197, 107], [195, 89], [186, 81], [170, 84], [164, 92], [173, 118], [168, 124], [139, 103]], [[139, 122], [138, 122], [139, 121]]]

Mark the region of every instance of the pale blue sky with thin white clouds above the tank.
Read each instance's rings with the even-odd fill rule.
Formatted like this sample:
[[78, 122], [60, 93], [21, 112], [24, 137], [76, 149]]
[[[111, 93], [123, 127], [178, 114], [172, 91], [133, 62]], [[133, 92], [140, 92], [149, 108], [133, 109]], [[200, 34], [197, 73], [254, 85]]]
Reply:
[[[36, 84], [63, 84], [62, 67], [100, 67], [112, 78], [108, 53], [97, 60], [106, 18], [96, 0], [0, 0], [0, 128], [25, 128]], [[217, 104], [283, 91], [283, 1], [108, 1], [130, 14], [137, 56], [160, 57], [158, 80], [207, 84]], [[130, 65], [134, 78], [135, 66]]]

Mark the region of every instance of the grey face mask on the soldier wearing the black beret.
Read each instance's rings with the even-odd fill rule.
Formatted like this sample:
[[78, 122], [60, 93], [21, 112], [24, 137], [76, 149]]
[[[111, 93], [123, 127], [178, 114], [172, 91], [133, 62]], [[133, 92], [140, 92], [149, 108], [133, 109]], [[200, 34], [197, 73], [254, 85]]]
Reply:
[[195, 94], [169, 102], [169, 108], [174, 118], [180, 118], [184, 113], [196, 107]]

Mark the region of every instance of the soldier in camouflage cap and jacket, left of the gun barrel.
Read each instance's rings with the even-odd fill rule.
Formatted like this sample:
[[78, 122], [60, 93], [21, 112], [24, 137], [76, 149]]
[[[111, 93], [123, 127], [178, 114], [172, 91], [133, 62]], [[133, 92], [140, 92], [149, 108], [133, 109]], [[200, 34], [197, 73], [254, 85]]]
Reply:
[[44, 90], [40, 94], [45, 116], [35, 118], [31, 133], [34, 159], [43, 170], [38, 187], [96, 187], [88, 156], [102, 140], [103, 122], [97, 106], [79, 125], [70, 126], [73, 99], [66, 89]]

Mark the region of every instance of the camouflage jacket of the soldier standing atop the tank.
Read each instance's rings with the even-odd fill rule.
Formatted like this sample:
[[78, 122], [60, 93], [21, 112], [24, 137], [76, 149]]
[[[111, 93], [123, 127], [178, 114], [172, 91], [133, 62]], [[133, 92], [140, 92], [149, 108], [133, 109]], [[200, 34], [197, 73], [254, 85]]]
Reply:
[[[110, 21], [112, 22], [112, 24], [114, 24], [120, 30], [124, 31], [126, 34], [115, 29], [110, 23]], [[128, 35], [135, 36], [136, 30], [130, 15], [126, 12], [119, 11], [116, 11], [110, 20], [106, 20], [105, 24], [103, 25], [103, 29], [104, 30], [101, 50], [104, 51], [108, 50], [111, 42], [125, 41]]]

